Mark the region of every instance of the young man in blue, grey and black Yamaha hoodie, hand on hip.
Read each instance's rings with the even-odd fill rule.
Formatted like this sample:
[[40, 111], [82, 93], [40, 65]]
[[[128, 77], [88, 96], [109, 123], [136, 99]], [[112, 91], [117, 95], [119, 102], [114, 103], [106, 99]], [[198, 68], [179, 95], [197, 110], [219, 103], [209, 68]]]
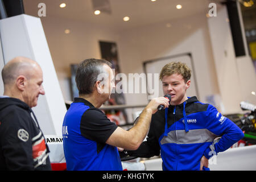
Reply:
[[184, 63], [168, 63], [159, 78], [171, 105], [152, 115], [147, 140], [128, 154], [161, 154], [163, 170], [209, 170], [208, 159], [243, 138], [241, 129], [214, 106], [187, 97], [191, 69]]

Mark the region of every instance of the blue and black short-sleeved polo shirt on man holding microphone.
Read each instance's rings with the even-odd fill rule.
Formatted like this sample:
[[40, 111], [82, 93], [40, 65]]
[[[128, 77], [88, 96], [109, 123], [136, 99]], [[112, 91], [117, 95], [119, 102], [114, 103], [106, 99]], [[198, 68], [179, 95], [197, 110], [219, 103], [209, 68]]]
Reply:
[[67, 170], [121, 171], [117, 147], [106, 140], [117, 129], [106, 115], [83, 98], [75, 98], [63, 121]]

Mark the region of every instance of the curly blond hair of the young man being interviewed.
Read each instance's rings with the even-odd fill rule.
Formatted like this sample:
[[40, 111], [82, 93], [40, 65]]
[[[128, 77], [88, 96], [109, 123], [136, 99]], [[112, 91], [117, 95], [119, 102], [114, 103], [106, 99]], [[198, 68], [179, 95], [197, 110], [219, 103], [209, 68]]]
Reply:
[[163, 81], [164, 76], [171, 76], [175, 73], [183, 76], [185, 82], [191, 79], [191, 69], [185, 63], [180, 62], [171, 62], [164, 65], [160, 72], [159, 79]]

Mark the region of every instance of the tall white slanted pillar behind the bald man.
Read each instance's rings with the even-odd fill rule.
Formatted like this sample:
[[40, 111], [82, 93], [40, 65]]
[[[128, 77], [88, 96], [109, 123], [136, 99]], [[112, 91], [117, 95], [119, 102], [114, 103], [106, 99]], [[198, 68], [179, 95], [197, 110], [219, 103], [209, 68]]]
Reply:
[[41, 66], [46, 94], [39, 97], [38, 105], [32, 110], [45, 135], [61, 136], [67, 109], [40, 18], [22, 14], [2, 19], [0, 33], [5, 63], [16, 56], [24, 56]]

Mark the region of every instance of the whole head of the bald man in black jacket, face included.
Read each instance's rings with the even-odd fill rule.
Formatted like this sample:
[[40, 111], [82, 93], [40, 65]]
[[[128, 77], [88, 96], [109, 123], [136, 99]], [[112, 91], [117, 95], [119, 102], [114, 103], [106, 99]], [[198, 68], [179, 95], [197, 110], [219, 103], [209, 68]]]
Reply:
[[38, 104], [40, 94], [44, 95], [43, 72], [36, 61], [27, 57], [15, 57], [2, 70], [4, 95], [18, 98], [28, 106]]

